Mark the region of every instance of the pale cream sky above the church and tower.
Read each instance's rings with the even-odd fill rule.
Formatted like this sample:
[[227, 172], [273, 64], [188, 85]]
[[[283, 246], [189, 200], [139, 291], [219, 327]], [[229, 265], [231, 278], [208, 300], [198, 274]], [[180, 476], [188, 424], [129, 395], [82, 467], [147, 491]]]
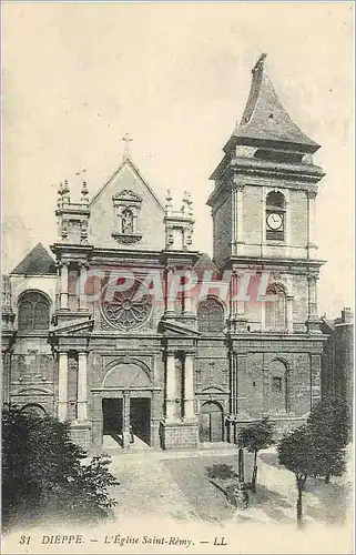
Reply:
[[132, 159], [164, 202], [191, 191], [194, 248], [212, 254], [208, 176], [262, 52], [282, 103], [322, 144], [319, 314], [354, 302], [353, 2], [2, 4], [2, 271], [57, 239], [58, 183], [79, 198]]

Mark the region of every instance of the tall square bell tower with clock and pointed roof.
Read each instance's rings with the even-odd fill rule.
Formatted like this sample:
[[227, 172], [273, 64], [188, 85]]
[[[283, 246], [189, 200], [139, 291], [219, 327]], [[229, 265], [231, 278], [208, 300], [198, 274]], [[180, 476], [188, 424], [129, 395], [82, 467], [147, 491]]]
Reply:
[[[313, 161], [319, 145], [283, 107], [265, 58], [252, 70], [245, 110], [207, 200], [214, 262], [232, 271], [225, 307], [231, 442], [262, 415], [277, 435], [301, 425], [321, 396], [317, 280], [324, 261], [317, 259], [315, 200], [324, 172]], [[246, 275], [255, 286], [241, 294]]]

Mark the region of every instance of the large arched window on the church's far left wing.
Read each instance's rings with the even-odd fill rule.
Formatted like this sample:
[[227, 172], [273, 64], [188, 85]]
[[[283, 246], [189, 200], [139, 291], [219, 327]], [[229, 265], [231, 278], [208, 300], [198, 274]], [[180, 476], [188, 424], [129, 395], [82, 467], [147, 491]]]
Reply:
[[30, 291], [19, 302], [19, 330], [48, 330], [50, 325], [50, 305], [42, 293]]

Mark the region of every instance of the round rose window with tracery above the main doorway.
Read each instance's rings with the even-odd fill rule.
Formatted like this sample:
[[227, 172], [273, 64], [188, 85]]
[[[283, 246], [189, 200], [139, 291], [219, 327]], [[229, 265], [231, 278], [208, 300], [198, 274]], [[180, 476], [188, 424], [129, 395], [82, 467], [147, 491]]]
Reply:
[[[134, 330], [150, 317], [152, 296], [142, 283], [136, 282], [131, 289], [114, 291], [113, 294], [108, 294], [108, 291], [109, 287], [102, 299], [102, 312], [119, 330]], [[105, 299], [108, 296], [110, 300]]]

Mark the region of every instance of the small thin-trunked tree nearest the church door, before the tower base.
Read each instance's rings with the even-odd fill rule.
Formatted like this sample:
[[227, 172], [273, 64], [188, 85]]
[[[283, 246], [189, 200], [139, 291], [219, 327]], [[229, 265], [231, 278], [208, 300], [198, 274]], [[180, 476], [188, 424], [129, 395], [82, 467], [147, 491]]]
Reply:
[[250, 453], [254, 453], [254, 467], [251, 481], [251, 490], [256, 492], [257, 483], [257, 454], [260, 450], [269, 447], [273, 442], [274, 425], [268, 421], [268, 417], [263, 417], [261, 421], [254, 422], [240, 431], [237, 445], [245, 447]]

